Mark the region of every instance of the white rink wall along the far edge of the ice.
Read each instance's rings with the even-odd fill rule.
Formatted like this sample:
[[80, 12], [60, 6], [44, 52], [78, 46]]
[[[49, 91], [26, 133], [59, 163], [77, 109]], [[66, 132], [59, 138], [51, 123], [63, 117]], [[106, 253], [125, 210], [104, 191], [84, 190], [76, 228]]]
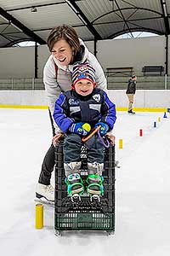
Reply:
[[[108, 90], [117, 108], [127, 108], [126, 90]], [[47, 106], [44, 90], [0, 90], [0, 105]], [[137, 90], [134, 108], [170, 108], [170, 90]]]

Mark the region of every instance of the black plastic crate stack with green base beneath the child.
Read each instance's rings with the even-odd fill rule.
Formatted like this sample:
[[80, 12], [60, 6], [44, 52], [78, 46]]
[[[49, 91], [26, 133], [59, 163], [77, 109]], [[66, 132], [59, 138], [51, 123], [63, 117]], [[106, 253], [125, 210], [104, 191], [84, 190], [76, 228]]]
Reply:
[[[82, 147], [81, 176], [86, 187], [87, 151]], [[115, 146], [105, 148], [104, 195], [101, 201], [92, 203], [85, 192], [82, 201], [75, 204], [67, 196], [63, 162], [63, 141], [55, 148], [55, 206], [54, 230], [105, 230], [115, 231]]]

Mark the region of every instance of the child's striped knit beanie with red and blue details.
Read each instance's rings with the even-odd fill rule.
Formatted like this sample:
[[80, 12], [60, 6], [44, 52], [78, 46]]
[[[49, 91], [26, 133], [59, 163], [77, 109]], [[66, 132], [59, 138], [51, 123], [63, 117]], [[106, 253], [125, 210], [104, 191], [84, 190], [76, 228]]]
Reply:
[[72, 69], [72, 88], [82, 79], [87, 79], [95, 86], [95, 70], [88, 63], [77, 64]]

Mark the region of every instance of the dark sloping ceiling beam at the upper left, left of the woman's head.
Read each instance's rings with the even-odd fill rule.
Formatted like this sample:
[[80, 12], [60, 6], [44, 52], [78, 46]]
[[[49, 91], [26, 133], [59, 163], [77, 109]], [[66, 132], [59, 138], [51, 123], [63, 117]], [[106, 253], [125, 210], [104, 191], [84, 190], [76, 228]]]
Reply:
[[24, 32], [28, 37], [32, 38], [38, 44], [47, 44], [42, 38], [37, 36], [28, 27], [24, 26], [19, 20], [16, 20], [12, 15], [9, 15], [3, 8], [0, 7], [0, 15], [12, 23], [16, 28]]

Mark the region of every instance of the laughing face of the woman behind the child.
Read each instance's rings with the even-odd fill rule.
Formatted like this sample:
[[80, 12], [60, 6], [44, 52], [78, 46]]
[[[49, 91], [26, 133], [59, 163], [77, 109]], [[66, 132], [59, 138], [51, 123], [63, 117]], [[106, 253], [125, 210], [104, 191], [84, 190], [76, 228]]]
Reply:
[[65, 41], [65, 39], [60, 39], [58, 42], [56, 42], [51, 50], [51, 53], [62, 66], [69, 65], [73, 59], [73, 49], [71, 48], [70, 44]]

